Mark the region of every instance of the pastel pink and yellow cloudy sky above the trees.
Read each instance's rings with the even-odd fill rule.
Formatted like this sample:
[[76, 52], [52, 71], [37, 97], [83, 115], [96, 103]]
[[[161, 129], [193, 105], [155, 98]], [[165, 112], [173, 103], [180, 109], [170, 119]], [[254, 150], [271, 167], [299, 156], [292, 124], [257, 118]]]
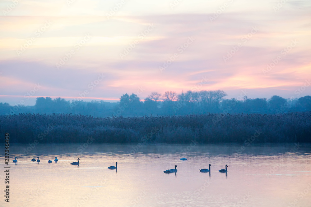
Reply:
[[0, 102], [311, 95], [311, 1], [0, 1]]

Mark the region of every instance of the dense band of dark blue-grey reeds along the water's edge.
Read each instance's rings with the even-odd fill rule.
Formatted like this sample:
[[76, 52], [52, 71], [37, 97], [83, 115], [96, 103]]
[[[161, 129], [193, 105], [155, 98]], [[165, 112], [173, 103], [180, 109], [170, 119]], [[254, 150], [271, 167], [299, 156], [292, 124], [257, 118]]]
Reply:
[[192, 114], [93, 117], [0, 115], [11, 143], [290, 143], [311, 142], [311, 111], [282, 114]]

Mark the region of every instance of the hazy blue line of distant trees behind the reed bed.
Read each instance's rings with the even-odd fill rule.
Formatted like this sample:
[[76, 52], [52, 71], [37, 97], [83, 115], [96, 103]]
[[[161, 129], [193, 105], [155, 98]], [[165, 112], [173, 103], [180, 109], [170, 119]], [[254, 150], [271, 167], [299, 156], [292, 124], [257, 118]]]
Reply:
[[225, 91], [187, 91], [177, 94], [166, 91], [164, 94], [152, 92], [143, 101], [132, 93], [125, 93], [118, 102], [105, 101], [66, 101], [63, 98], [38, 97], [34, 106], [0, 103], [0, 115], [19, 113], [39, 114], [81, 114], [98, 117], [113, 116], [157, 116], [187, 114], [280, 114], [295, 111], [310, 111], [311, 96], [299, 99], [285, 99], [280, 96], [248, 98], [247, 96], [225, 99]]

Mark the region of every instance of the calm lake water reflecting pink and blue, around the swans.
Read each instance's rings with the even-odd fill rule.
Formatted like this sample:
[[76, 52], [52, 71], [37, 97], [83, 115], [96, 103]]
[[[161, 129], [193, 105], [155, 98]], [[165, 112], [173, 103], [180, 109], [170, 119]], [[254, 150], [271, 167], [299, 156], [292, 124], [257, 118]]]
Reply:
[[[39, 144], [24, 154], [27, 145], [11, 144], [9, 205], [311, 206], [310, 145], [135, 146]], [[79, 167], [70, 164], [77, 158]], [[115, 162], [118, 172], [107, 169]], [[211, 173], [199, 172], [209, 164]], [[175, 165], [176, 174], [163, 173]]]

